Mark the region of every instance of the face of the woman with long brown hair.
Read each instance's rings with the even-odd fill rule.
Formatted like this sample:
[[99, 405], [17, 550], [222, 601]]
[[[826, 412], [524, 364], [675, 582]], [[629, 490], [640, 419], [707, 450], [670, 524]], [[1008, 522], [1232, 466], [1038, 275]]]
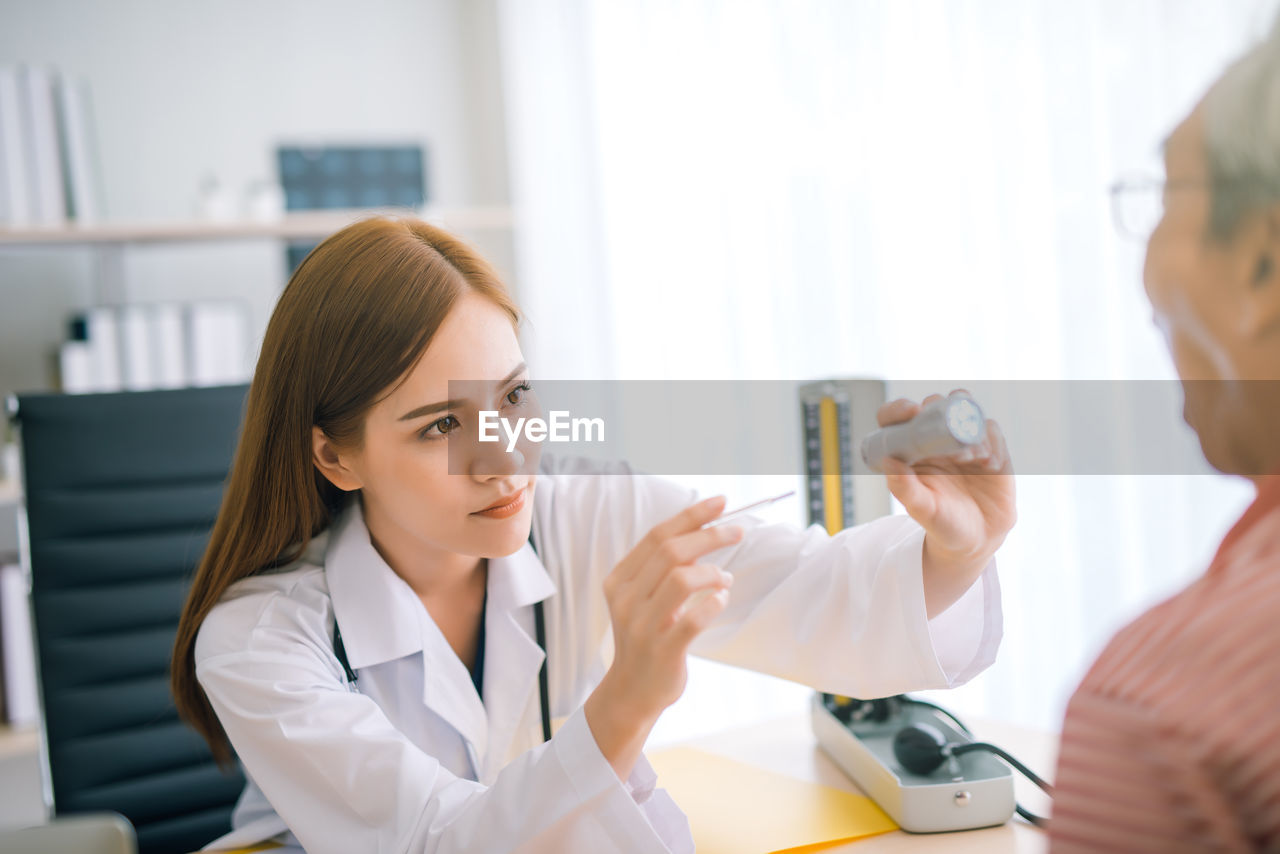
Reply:
[[[454, 394], [460, 385], [475, 394], [451, 401], [451, 380], [467, 380], [454, 383]], [[524, 544], [538, 448], [521, 443], [508, 453], [506, 442], [479, 444], [475, 435], [479, 410], [536, 415], [527, 380], [511, 318], [463, 294], [404, 380], [370, 410], [361, 448], [344, 455], [380, 548], [429, 560], [433, 552], [500, 557]], [[481, 387], [484, 399], [475, 399]]]

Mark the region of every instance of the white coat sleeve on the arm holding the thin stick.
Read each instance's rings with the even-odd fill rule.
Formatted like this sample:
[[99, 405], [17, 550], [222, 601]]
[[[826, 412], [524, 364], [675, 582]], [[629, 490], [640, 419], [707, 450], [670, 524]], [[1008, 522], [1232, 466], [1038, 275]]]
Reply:
[[206, 620], [196, 675], [246, 771], [310, 854], [691, 850], [687, 823], [654, 830], [639, 803], [652, 781], [618, 780], [581, 708], [484, 786], [448, 772], [349, 690], [306, 621], [251, 627], [246, 639], [239, 616], [220, 606]]

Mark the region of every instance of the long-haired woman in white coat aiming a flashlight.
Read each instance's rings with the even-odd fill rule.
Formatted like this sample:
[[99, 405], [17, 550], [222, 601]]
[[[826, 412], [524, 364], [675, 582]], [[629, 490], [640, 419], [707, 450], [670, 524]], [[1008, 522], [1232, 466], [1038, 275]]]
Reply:
[[[691, 851], [641, 755], [689, 652], [864, 698], [993, 661], [993, 424], [974, 458], [892, 467], [911, 519], [704, 528], [722, 497], [474, 442], [479, 410], [529, 405], [518, 321], [417, 220], [356, 223], [293, 274], [174, 649], [179, 709], [248, 780], [211, 848]], [[463, 378], [490, 397], [449, 399]]]

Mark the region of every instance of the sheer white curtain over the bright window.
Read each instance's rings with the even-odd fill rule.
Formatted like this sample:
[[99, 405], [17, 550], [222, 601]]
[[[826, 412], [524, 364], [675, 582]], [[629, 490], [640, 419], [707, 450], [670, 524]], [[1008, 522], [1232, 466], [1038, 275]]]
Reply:
[[[1107, 187], [1158, 165], [1275, 6], [500, 1], [531, 365], [575, 379], [1170, 379], [1143, 247], [1116, 234]], [[695, 485], [745, 501], [776, 484]], [[1252, 492], [1211, 474], [1018, 487], [1000, 659], [936, 699], [1056, 729], [1106, 639], [1203, 571]], [[774, 512], [801, 521], [799, 504]], [[655, 737], [806, 695], [698, 665]]]

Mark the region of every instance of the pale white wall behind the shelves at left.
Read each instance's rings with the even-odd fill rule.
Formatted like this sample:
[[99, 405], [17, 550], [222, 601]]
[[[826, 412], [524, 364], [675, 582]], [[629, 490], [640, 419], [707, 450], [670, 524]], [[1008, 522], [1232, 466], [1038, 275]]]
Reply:
[[[88, 79], [110, 219], [189, 219], [209, 174], [274, 179], [282, 141], [420, 141], [433, 202], [508, 200], [492, 0], [0, 0], [15, 63]], [[284, 280], [269, 241], [137, 247], [127, 270], [131, 298], [246, 300], [255, 342]], [[95, 297], [88, 250], [0, 250], [0, 393], [47, 385]]]

